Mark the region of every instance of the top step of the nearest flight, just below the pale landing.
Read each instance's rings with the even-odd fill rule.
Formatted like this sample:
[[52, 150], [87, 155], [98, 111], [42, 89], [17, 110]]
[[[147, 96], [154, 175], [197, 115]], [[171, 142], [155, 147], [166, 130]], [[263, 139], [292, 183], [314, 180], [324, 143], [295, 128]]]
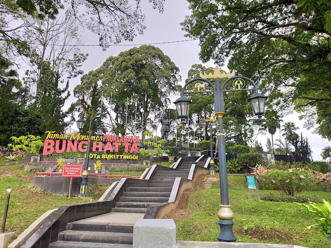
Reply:
[[108, 225], [107, 223], [100, 224], [98, 222], [88, 222], [88, 221], [79, 221], [78, 220], [78, 221], [68, 223], [67, 230], [133, 233], [133, 226]]

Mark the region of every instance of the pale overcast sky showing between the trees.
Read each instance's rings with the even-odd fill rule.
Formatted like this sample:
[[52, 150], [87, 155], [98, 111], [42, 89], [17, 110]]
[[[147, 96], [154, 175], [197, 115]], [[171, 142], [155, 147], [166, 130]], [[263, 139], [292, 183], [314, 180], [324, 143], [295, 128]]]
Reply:
[[[157, 10], [153, 10], [152, 4], [150, 4], [147, 0], [142, 1], [142, 7], [146, 16], [146, 29], [143, 35], [138, 35], [132, 42], [125, 41], [120, 43], [119, 46], [111, 46], [106, 51], [103, 51], [99, 46], [83, 46], [80, 48], [82, 53], [89, 53], [87, 60], [81, 67], [84, 73], [88, 73], [89, 71], [99, 68], [109, 56], [117, 56], [120, 52], [129, 50], [132, 47], [139, 47], [139, 44], [183, 41], [190, 39], [189, 37], [184, 37], [185, 33], [182, 31], [180, 26], [180, 22], [183, 22], [185, 16], [190, 14], [186, 0], [166, 0], [164, 12], [162, 14]], [[98, 45], [98, 36], [94, 35], [91, 31], [84, 30], [82, 35], [85, 45]], [[179, 67], [180, 74], [182, 76], [182, 86], [184, 86], [187, 72], [193, 64], [203, 64], [205, 67], [215, 67], [214, 61], [209, 61], [208, 63], [202, 63], [200, 61], [200, 47], [198, 40], [167, 44], [153, 44], [153, 46], [160, 48], [163, 53], [168, 55], [175, 65]], [[222, 69], [228, 72], [226, 67], [223, 67]], [[20, 74], [22, 75], [23, 73]], [[77, 84], [80, 84], [80, 77], [71, 79], [69, 90], [73, 92], [73, 89]], [[170, 99], [173, 102], [177, 99], [177, 97], [174, 96]], [[67, 101], [65, 107], [69, 107], [74, 101], [76, 100], [74, 99], [72, 93], [72, 96]], [[171, 108], [175, 108], [175, 106], [172, 105]], [[304, 136], [308, 137], [308, 141], [313, 151], [313, 160], [320, 160], [320, 153], [322, 149], [325, 146], [331, 145], [331, 142], [326, 139], [322, 139], [317, 134], [313, 134], [312, 130], [306, 130], [303, 127], [304, 121], [299, 121], [298, 116], [299, 114], [294, 113], [290, 116], [284, 117], [283, 121], [294, 122], [295, 125], [300, 128], [298, 130], [298, 134], [302, 132]], [[75, 124], [73, 128], [77, 129]], [[158, 135], [160, 136], [160, 130], [158, 132]], [[266, 135], [259, 135], [257, 138], [257, 140], [264, 147], [264, 150], [266, 150], [265, 144], [267, 137], [271, 140], [271, 135], [269, 133]], [[274, 141], [276, 139], [279, 139], [279, 129], [276, 131]], [[282, 140], [284, 140], [283, 137]]]

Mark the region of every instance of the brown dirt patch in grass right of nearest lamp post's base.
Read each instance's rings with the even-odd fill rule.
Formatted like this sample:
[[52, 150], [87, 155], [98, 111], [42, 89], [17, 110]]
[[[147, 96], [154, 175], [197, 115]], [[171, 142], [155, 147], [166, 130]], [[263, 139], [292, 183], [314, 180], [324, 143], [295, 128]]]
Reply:
[[271, 242], [277, 240], [279, 243], [284, 244], [286, 242], [291, 242], [294, 239], [294, 235], [289, 234], [283, 230], [270, 229], [247, 229], [239, 228], [234, 230], [240, 236], [250, 236], [251, 239], [257, 239], [263, 242]]

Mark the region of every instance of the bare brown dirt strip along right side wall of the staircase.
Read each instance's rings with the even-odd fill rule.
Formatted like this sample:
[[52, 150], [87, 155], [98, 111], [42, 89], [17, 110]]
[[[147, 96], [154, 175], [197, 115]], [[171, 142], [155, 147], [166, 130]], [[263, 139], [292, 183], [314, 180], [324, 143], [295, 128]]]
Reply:
[[[202, 189], [202, 181], [206, 178], [206, 176], [199, 176], [195, 180], [194, 186], [192, 189], [186, 189], [182, 192], [181, 197], [179, 198], [177, 208], [171, 211], [171, 213], [167, 214], [167, 217], [172, 219], [183, 219], [189, 216], [192, 211], [184, 209], [187, 206], [188, 197], [190, 195], [194, 195], [198, 190]], [[198, 228], [198, 227], [197, 227]]]

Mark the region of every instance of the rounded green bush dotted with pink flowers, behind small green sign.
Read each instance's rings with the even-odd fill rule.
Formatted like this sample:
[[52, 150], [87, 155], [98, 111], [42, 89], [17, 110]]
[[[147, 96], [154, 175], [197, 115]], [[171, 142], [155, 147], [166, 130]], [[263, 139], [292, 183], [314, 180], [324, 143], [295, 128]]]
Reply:
[[271, 171], [258, 176], [258, 182], [263, 189], [278, 190], [281, 195], [301, 193], [315, 183], [315, 178], [310, 172], [304, 170]]

